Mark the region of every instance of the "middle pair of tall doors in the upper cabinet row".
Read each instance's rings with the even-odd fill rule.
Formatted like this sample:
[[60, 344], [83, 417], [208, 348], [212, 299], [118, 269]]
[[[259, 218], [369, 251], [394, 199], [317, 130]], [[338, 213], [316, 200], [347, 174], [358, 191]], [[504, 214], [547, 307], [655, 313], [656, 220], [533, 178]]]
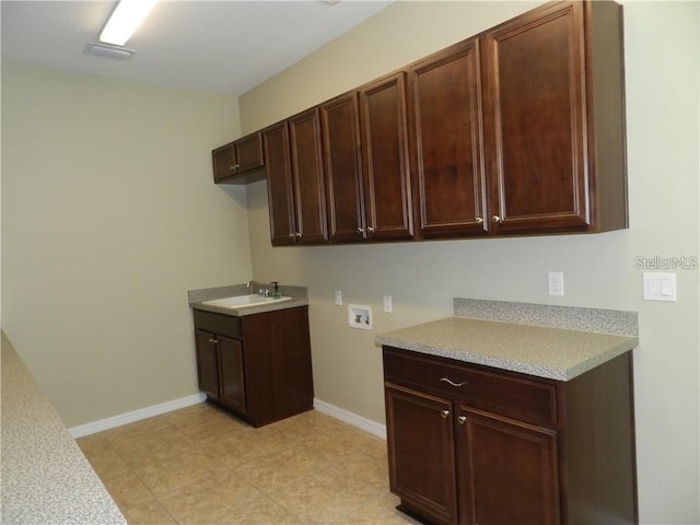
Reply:
[[320, 115], [330, 241], [412, 238], [405, 73], [322, 104]]

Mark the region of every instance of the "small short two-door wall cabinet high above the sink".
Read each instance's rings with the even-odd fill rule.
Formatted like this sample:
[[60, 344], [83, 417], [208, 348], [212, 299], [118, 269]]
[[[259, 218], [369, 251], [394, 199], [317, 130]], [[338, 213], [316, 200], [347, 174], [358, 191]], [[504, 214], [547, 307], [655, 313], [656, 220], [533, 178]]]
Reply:
[[265, 178], [265, 158], [260, 132], [217, 148], [211, 152], [214, 183], [245, 184], [255, 178]]

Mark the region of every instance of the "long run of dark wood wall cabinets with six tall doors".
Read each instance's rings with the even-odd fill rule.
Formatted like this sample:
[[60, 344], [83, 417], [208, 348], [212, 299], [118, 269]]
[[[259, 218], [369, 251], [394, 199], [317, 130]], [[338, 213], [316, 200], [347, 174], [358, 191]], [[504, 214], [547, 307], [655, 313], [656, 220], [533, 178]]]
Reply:
[[627, 228], [621, 18], [549, 2], [264, 130], [272, 244]]

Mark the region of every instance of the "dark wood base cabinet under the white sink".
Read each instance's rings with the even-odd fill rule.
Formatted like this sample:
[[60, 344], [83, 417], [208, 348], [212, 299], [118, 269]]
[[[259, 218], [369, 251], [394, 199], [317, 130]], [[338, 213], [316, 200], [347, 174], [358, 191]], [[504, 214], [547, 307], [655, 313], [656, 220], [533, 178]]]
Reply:
[[194, 311], [199, 388], [253, 427], [311, 410], [308, 307], [241, 317]]

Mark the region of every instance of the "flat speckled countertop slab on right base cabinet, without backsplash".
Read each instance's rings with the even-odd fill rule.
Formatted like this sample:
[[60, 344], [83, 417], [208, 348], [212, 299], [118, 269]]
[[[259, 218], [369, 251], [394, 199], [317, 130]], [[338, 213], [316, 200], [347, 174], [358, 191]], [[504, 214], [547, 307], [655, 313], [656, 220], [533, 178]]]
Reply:
[[455, 316], [382, 334], [375, 342], [569, 381], [632, 350], [638, 339], [627, 335]]

